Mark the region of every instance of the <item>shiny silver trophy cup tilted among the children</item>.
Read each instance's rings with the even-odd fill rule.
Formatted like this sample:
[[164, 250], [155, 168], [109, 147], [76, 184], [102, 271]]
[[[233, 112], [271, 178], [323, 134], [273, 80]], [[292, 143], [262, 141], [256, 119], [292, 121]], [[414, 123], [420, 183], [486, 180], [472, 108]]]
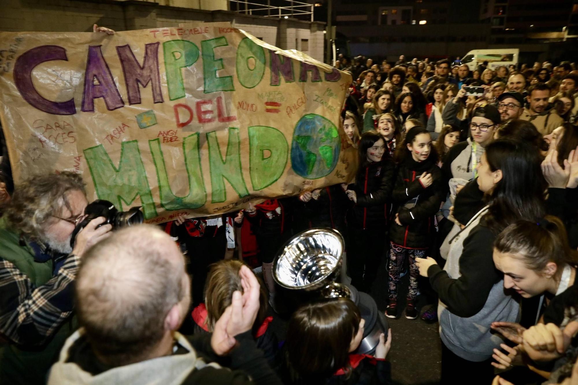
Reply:
[[281, 247], [273, 262], [273, 278], [288, 291], [301, 293], [302, 301], [339, 297], [351, 299], [365, 320], [364, 339], [357, 353], [372, 354], [379, 343], [379, 335], [383, 332], [387, 334], [387, 320], [369, 294], [361, 293], [351, 285], [335, 282], [341, 270], [344, 250], [343, 236], [335, 229], [312, 228], [303, 231]]

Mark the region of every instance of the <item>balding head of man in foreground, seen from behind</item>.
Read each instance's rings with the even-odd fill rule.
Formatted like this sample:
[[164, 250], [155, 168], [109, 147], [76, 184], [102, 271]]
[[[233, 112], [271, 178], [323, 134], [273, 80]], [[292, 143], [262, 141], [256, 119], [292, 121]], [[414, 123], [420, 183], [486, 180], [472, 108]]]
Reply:
[[103, 361], [130, 362], [151, 349], [188, 292], [183, 255], [151, 225], [121, 229], [92, 247], [76, 279], [80, 324]]

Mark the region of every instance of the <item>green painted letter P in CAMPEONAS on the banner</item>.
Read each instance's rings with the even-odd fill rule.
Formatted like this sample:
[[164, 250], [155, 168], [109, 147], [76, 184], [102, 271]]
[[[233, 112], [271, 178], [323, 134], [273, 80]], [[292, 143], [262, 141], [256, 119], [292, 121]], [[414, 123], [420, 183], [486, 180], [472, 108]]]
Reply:
[[183, 73], [181, 68], [195, 64], [199, 58], [199, 47], [188, 40], [169, 40], [162, 43], [165, 56], [166, 84], [169, 99], [184, 98]]

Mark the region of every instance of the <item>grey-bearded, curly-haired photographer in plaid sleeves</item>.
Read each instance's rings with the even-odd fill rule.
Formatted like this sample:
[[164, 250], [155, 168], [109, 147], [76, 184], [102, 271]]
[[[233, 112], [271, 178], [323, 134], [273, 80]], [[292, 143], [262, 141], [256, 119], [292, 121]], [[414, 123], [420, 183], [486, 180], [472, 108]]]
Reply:
[[81, 176], [31, 177], [0, 218], [0, 383], [43, 384], [74, 329], [72, 284], [80, 259], [109, 235], [105, 219], [72, 232], [87, 206]]

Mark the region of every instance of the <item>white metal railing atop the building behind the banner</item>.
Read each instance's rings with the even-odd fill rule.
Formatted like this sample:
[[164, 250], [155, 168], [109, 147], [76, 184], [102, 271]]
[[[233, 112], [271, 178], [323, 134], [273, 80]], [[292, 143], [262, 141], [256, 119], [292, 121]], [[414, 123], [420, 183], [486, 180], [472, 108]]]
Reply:
[[[303, 16], [309, 16], [307, 18], [310, 18], [310, 21], [313, 21], [313, 8], [315, 5], [310, 3], [304, 3], [295, 0], [282, 0], [283, 3], [287, 3], [286, 6], [273, 6], [271, 5], [271, 0], [263, 0], [261, 3], [255, 3], [247, 0], [228, 1], [231, 3], [231, 10], [233, 12], [279, 18], [289, 18], [296, 16], [298, 16], [297, 18], [304, 18]], [[276, 0], [276, 2], [279, 3], [280, 0]], [[233, 5], [233, 3], [235, 3], [235, 5]]]

